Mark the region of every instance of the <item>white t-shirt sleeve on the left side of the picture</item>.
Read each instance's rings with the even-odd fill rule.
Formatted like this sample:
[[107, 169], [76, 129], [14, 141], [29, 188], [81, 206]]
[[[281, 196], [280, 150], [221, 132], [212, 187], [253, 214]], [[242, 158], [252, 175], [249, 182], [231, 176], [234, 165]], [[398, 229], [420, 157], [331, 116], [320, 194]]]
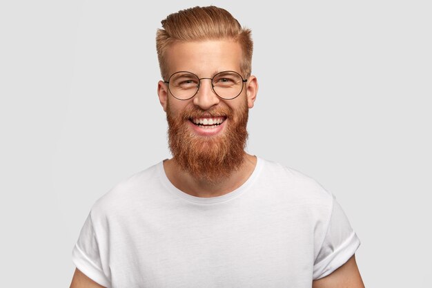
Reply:
[[72, 262], [88, 278], [106, 288], [111, 287], [110, 280], [102, 267], [99, 244], [95, 235], [91, 213], [84, 222], [78, 241], [72, 249]]

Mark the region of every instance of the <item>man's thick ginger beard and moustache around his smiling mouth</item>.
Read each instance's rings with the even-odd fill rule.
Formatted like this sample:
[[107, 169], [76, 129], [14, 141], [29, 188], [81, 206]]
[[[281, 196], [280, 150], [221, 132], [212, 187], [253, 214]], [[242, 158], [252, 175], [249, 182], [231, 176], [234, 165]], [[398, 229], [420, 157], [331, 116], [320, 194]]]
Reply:
[[[222, 135], [199, 136], [188, 127], [192, 118], [206, 116], [225, 116], [226, 127]], [[234, 118], [235, 117], [235, 118]], [[236, 111], [228, 106], [210, 111], [191, 108], [175, 119], [170, 113], [168, 101], [166, 118], [168, 120], [168, 144], [173, 159], [180, 168], [197, 180], [216, 184], [237, 171], [244, 162], [244, 148], [248, 139], [247, 102]]]

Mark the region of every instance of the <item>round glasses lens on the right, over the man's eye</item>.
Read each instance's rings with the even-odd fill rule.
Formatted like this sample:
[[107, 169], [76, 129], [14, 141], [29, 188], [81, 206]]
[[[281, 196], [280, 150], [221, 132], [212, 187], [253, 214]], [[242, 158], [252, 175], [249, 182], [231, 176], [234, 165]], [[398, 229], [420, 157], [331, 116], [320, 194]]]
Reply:
[[218, 73], [213, 77], [213, 89], [219, 97], [233, 99], [243, 90], [243, 78], [233, 71]]

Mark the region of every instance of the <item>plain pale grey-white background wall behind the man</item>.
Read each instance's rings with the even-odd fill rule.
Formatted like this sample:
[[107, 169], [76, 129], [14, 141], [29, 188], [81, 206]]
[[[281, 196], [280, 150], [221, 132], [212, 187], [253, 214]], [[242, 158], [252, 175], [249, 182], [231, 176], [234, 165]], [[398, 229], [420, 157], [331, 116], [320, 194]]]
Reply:
[[249, 153], [334, 193], [366, 287], [429, 287], [429, 1], [2, 1], [2, 287], [68, 287], [90, 207], [169, 157], [155, 32], [209, 4], [253, 30]]

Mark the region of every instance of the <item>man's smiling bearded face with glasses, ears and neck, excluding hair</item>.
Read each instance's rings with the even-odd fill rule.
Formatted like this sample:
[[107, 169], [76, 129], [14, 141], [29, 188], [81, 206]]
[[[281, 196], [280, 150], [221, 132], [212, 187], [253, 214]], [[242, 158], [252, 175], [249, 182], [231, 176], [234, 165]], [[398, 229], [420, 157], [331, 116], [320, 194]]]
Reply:
[[234, 191], [256, 165], [244, 148], [258, 84], [242, 69], [242, 47], [235, 39], [177, 41], [160, 53], [170, 75], [158, 85], [173, 153], [168, 179], [197, 197]]

